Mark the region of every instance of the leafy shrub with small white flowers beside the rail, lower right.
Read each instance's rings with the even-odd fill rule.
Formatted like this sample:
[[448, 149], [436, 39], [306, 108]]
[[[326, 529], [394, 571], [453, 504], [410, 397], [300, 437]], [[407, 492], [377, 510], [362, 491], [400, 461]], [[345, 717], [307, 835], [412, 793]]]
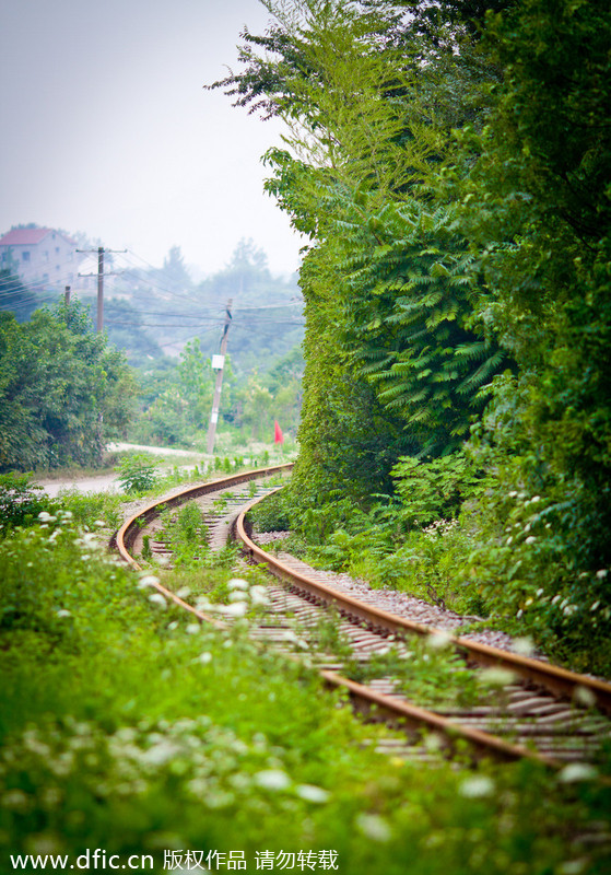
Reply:
[[579, 497], [500, 491], [470, 508], [471, 544], [456, 561], [457, 578], [508, 629], [530, 633], [573, 667], [608, 673], [611, 569], [580, 567], [578, 551], [566, 549], [566, 517]]

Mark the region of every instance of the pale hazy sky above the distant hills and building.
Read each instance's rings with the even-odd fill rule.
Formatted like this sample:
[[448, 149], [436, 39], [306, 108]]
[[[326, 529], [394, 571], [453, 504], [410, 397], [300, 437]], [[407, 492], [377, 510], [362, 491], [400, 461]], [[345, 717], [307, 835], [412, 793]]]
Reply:
[[302, 242], [262, 190], [275, 122], [202, 89], [236, 66], [258, 0], [0, 0], [0, 233], [82, 231], [205, 273], [252, 237], [274, 272]]

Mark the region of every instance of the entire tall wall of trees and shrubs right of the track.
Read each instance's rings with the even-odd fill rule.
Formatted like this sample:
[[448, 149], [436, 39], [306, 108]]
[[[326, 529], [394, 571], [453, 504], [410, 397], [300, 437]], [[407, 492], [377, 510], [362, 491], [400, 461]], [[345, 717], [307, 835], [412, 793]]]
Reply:
[[215, 86], [290, 126], [268, 189], [310, 241], [279, 515], [609, 674], [607, 5], [266, 5]]

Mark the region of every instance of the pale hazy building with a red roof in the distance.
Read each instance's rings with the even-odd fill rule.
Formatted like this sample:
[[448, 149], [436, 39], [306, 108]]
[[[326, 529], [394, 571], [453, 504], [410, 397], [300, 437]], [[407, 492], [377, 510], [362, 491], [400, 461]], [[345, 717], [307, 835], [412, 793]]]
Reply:
[[74, 287], [82, 260], [77, 242], [51, 228], [15, 228], [0, 237], [0, 268], [28, 285]]

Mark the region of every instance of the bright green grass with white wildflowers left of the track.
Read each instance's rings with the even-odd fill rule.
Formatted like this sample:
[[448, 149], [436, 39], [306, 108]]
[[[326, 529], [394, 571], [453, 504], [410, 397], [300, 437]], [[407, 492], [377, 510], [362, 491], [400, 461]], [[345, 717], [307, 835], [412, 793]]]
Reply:
[[[333, 849], [348, 875], [565, 875], [586, 854], [604, 872], [571, 840], [608, 816], [608, 789], [378, 756], [385, 731], [314, 673], [246, 621], [216, 632], [152, 598], [96, 539], [64, 516], [1, 545], [2, 871], [9, 852], [103, 848], [158, 873], [167, 849], [244, 851], [250, 870], [265, 850]], [[198, 574], [219, 595], [232, 576]]]

